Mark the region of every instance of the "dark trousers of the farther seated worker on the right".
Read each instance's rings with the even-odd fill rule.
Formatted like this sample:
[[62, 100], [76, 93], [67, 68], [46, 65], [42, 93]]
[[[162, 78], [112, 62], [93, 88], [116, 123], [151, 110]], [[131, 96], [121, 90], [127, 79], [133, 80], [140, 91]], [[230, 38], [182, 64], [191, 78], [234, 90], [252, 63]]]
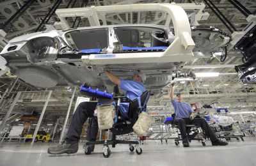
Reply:
[[193, 120], [190, 120], [189, 118], [175, 119], [175, 123], [178, 124], [183, 143], [188, 142], [186, 124], [195, 124], [196, 126], [202, 128], [202, 130], [204, 130], [205, 136], [210, 138], [211, 142], [219, 140], [204, 118], [195, 118]]

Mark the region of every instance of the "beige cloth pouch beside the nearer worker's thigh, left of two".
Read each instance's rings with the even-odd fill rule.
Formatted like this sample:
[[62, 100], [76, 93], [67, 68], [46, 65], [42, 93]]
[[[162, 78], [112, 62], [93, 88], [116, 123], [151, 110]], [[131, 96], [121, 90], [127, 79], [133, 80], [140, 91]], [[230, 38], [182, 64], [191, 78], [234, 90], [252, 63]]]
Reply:
[[113, 105], [101, 105], [97, 107], [97, 119], [100, 130], [112, 128], [115, 118]]

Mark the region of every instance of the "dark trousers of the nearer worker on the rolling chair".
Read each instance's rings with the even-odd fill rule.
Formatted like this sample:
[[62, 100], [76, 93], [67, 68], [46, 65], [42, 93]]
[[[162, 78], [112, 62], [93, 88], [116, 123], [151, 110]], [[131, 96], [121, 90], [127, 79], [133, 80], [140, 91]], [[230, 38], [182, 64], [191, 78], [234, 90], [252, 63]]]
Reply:
[[82, 102], [77, 106], [68, 129], [67, 138], [79, 140], [82, 133], [83, 124], [88, 117], [91, 117], [90, 126], [87, 131], [86, 140], [95, 141], [99, 130], [97, 117], [93, 116], [97, 102]]

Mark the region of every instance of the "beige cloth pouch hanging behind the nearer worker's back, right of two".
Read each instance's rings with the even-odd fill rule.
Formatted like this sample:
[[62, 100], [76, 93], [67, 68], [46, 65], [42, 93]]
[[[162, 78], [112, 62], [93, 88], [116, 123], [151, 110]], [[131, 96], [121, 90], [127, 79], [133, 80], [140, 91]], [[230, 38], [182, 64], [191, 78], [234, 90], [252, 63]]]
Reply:
[[141, 112], [138, 120], [132, 126], [132, 129], [138, 136], [147, 136], [151, 123], [152, 117], [146, 112]]

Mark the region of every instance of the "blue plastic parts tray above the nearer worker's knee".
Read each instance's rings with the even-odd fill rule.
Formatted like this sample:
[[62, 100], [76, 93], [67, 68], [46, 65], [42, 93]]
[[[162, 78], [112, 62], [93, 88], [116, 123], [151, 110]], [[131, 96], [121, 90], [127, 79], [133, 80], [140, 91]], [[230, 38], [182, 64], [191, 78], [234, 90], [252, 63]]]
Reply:
[[80, 87], [80, 91], [84, 94], [96, 98], [113, 98], [113, 93], [107, 93], [106, 91], [100, 91], [99, 89], [92, 89], [91, 87]]

